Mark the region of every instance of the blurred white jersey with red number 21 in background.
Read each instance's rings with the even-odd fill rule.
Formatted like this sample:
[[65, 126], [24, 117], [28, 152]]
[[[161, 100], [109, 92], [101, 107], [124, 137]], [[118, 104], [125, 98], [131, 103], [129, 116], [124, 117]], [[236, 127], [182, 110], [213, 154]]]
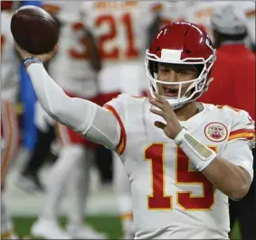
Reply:
[[156, 1], [84, 1], [83, 23], [95, 36], [103, 69], [99, 81], [102, 93], [139, 94], [148, 26], [163, 9]]

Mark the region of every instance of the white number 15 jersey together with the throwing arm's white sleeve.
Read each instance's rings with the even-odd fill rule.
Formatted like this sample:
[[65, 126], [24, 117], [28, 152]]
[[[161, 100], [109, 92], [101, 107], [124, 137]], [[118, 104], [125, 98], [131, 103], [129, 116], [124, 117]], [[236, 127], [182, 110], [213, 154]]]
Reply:
[[[53, 119], [119, 153], [130, 180], [137, 239], [228, 238], [228, 197], [156, 128], [155, 121], [163, 119], [149, 111], [147, 98], [121, 95], [105, 106], [111, 115], [90, 101], [67, 97], [42, 64], [33, 63], [27, 70]], [[200, 106], [202, 111], [181, 125], [218, 157], [242, 166], [252, 179], [251, 117], [228, 106]]]

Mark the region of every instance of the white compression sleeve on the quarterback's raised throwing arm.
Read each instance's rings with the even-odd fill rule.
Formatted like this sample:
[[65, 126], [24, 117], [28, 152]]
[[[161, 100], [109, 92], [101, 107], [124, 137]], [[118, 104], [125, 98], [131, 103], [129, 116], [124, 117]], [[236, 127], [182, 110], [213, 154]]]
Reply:
[[109, 149], [119, 144], [120, 125], [108, 110], [88, 100], [68, 97], [48, 75], [43, 64], [31, 64], [27, 72], [46, 113], [94, 143]]

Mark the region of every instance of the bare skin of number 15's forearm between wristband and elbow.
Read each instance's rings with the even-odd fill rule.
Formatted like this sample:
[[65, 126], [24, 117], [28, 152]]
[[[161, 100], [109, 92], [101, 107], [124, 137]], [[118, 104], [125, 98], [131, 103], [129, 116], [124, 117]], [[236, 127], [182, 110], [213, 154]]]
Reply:
[[216, 157], [202, 173], [216, 189], [232, 199], [243, 198], [250, 188], [251, 183], [245, 177], [244, 170], [222, 158]]

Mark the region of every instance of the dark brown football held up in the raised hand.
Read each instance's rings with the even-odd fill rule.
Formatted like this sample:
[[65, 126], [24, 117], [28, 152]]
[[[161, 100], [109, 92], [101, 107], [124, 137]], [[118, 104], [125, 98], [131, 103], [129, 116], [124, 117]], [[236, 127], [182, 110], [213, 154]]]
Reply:
[[33, 54], [52, 51], [59, 38], [58, 23], [43, 8], [33, 5], [20, 7], [12, 16], [14, 41]]

